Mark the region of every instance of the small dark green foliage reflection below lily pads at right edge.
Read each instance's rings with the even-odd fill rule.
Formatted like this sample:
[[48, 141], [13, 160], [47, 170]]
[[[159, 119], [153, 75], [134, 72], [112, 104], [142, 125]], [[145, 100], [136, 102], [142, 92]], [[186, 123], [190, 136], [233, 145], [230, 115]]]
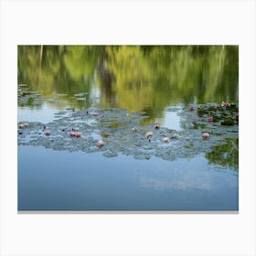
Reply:
[[239, 169], [239, 139], [227, 139], [227, 144], [214, 147], [206, 154], [209, 164]]

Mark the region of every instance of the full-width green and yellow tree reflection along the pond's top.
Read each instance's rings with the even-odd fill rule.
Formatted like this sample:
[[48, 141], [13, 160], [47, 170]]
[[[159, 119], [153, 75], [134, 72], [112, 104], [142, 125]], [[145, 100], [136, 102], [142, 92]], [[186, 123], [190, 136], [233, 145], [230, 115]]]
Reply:
[[[19, 46], [18, 81], [46, 98], [88, 108], [92, 87], [99, 105], [146, 111], [152, 123], [172, 102], [237, 101], [236, 46]], [[86, 101], [75, 93], [88, 92]]]

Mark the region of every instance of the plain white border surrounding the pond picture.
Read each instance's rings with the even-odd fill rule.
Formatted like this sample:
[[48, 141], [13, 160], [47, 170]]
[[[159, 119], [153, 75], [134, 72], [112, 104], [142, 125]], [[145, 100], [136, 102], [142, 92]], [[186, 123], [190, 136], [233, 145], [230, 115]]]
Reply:
[[[1, 255], [256, 255], [254, 1], [1, 1]], [[239, 44], [239, 214], [17, 214], [16, 45]]]

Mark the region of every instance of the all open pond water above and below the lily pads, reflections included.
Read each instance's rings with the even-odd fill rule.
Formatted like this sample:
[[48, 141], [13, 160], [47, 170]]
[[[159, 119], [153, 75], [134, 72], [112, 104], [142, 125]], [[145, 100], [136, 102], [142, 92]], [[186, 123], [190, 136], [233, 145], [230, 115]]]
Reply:
[[[19, 46], [17, 119], [117, 107], [181, 131], [191, 103], [238, 103], [238, 67], [235, 46]], [[238, 210], [236, 146], [165, 161], [19, 145], [18, 209]]]

